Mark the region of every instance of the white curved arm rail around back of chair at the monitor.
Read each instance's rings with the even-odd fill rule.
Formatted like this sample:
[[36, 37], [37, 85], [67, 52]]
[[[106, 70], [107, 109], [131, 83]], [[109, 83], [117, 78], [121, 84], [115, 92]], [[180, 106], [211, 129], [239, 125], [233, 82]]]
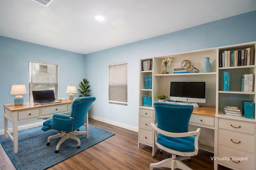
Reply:
[[[200, 133], [200, 130], [199, 131], [191, 131], [191, 132], [182, 132], [182, 133], [168, 132], [168, 131], [164, 131], [164, 130], [160, 129], [156, 125], [157, 125], [157, 123], [156, 124], [151, 123], [151, 126], [153, 127], [153, 129], [155, 131], [157, 131], [158, 133], [161, 133], [162, 135], [168, 136], [168, 137], [188, 137], [188, 136], [196, 136], [196, 135], [198, 135], [198, 133]], [[198, 129], [200, 129], [200, 128], [198, 128]]]

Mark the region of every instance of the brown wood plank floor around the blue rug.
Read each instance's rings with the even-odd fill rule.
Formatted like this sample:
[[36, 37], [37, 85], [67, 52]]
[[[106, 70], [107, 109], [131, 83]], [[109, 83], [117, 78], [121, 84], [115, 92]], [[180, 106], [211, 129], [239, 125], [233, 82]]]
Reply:
[[[152, 148], [141, 145], [138, 148], [138, 133], [89, 119], [89, 124], [111, 131], [114, 136], [94, 145], [74, 156], [56, 164], [48, 170], [149, 170], [150, 163], [168, 158], [168, 153], [152, 156]], [[82, 144], [81, 144], [82, 145]], [[60, 153], [59, 153], [60, 154]], [[194, 170], [213, 170], [212, 153], [199, 150], [192, 161], [183, 162]], [[154, 168], [154, 170], [168, 170], [170, 168]], [[219, 170], [230, 170], [219, 166]], [[15, 170], [12, 162], [0, 147], [0, 170]]]

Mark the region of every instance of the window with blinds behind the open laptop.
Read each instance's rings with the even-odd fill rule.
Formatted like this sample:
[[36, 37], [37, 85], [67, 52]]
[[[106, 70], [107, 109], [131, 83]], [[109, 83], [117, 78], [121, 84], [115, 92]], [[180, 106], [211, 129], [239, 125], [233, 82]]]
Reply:
[[34, 90], [54, 90], [58, 98], [58, 65], [28, 61], [28, 74], [30, 102], [33, 102]]

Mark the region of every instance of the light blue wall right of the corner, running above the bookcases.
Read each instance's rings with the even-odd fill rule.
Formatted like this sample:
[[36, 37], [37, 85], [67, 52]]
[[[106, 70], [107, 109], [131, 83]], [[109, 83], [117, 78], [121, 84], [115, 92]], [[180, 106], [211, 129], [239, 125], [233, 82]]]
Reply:
[[[138, 127], [140, 59], [256, 41], [256, 11], [86, 55], [91, 115]], [[108, 104], [108, 64], [128, 62], [128, 106]]]

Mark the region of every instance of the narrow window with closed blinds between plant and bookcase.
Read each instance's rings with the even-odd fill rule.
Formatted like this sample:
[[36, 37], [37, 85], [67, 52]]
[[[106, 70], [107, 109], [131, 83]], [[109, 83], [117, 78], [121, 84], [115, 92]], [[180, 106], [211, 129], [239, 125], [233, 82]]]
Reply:
[[127, 106], [127, 63], [109, 64], [108, 102]]

